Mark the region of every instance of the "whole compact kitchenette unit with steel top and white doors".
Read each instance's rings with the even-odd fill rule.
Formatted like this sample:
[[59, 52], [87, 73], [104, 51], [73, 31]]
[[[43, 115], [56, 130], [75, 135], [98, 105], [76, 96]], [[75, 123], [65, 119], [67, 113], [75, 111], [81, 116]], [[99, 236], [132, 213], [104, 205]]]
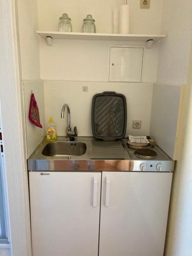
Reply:
[[[162, 256], [174, 161], [156, 145], [146, 160], [126, 140], [78, 142], [81, 156], [42, 155], [44, 141], [28, 160], [33, 256]], [[120, 144], [122, 158], [94, 157]]]

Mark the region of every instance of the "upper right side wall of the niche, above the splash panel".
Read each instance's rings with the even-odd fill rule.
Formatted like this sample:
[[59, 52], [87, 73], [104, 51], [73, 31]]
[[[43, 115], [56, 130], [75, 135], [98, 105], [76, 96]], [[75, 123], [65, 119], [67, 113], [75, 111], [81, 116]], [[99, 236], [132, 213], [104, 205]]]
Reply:
[[158, 83], [184, 84], [187, 80], [192, 35], [191, 0], [164, 0], [159, 43]]

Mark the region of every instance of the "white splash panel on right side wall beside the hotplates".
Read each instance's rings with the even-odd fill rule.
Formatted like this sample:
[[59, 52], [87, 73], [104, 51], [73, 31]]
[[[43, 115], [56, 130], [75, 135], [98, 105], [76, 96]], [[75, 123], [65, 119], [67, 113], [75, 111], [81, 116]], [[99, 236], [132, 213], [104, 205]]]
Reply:
[[174, 160], [177, 160], [175, 147], [178, 136], [178, 113], [182, 104], [181, 92], [180, 86], [154, 84], [150, 135]]

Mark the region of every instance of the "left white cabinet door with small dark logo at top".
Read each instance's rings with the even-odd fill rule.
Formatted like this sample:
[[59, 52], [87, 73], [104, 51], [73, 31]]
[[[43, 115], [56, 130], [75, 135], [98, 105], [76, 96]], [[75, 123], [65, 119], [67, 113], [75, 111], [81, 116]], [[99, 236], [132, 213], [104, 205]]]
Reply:
[[101, 173], [29, 173], [33, 256], [97, 256]]

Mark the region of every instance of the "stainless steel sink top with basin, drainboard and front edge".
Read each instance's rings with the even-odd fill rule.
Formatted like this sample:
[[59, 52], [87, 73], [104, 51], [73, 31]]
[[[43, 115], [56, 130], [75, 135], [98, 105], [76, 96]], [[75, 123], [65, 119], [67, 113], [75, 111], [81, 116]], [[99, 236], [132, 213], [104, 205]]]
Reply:
[[[57, 137], [56, 142], [44, 139], [28, 159], [28, 170], [42, 172], [41, 175], [53, 171], [140, 171], [140, 164], [144, 160], [132, 159], [125, 147], [126, 142], [127, 139], [100, 141], [93, 137], [75, 137], [73, 142], [61, 136]], [[172, 172], [174, 161], [168, 157], [166, 161], [167, 172]]]

